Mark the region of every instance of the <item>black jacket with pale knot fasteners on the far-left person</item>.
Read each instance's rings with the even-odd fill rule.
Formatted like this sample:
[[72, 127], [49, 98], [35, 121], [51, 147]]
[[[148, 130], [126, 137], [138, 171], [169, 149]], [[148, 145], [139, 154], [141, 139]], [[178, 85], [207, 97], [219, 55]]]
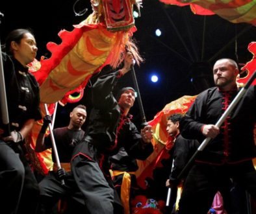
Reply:
[[42, 119], [39, 85], [29, 73], [29, 67], [24, 67], [18, 60], [4, 53], [3, 69], [10, 130], [19, 131], [28, 119]]

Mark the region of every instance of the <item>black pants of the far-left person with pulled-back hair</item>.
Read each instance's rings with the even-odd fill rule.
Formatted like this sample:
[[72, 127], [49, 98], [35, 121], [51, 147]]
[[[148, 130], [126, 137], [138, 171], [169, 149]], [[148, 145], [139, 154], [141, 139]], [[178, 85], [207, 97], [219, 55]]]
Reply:
[[21, 147], [0, 141], [0, 163], [1, 213], [36, 213], [38, 183]]

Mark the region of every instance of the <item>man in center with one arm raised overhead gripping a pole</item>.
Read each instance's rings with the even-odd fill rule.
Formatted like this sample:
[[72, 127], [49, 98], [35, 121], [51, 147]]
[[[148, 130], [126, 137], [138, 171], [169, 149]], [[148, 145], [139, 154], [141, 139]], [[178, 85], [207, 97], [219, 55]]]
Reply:
[[71, 160], [71, 170], [84, 195], [88, 213], [123, 213], [109, 173], [109, 156], [124, 147], [129, 155], [144, 160], [153, 151], [151, 126], [146, 126], [141, 135], [127, 117], [134, 104], [134, 89], [123, 88], [117, 99], [112, 93], [131, 64], [133, 54], [127, 53], [122, 69], [97, 78], [92, 86], [94, 108], [90, 112], [88, 133], [75, 147]]

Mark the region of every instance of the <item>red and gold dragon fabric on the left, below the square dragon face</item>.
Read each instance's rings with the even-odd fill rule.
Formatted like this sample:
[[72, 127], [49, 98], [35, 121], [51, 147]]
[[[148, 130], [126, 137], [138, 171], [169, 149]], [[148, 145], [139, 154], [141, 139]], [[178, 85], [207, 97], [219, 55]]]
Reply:
[[[133, 4], [130, 0], [91, 0], [93, 12], [71, 32], [61, 30], [58, 33], [62, 42], [47, 43], [51, 57], [41, 58], [31, 64], [36, 80], [40, 84], [42, 106], [60, 102], [77, 102], [83, 97], [83, 90], [92, 75], [109, 64], [117, 67], [122, 62], [125, 47], [131, 48], [136, 62], [141, 60], [136, 45], [131, 40], [136, 31], [133, 19]], [[73, 97], [73, 93], [78, 93]], [[42, 108], [42, 114], [44, 108]], [[45, 160], [51, 151], [35, 153], [36, 137], [42, 121], [33, 128], [27, 139], [26, 147], [33, 160], [33, 167], [42, 174], [51, 169], [51, 161]]]

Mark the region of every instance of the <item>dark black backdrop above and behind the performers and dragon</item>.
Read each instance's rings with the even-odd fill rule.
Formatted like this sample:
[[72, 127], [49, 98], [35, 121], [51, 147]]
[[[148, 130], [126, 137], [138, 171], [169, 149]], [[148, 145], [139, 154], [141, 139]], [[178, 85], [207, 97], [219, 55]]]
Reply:
[[[1, 1], [0, 12], [5, 15], [1, 19], [1, 41], [10, 30], [30, 27], [38, 43], [38, 60], [42, 55], [50, 57], [46, 43], [60, 43], [60, 30], [73, 30], [73, 25], [92, 12], [90, 1], [81, 0], [75, 11], [88, 11], [75, 16], [74, 3], [75, 0]], [[147, 121], [169, 102], [212, 86], [211, 67], [218, 58], [233, 58], [239, 64], [252, 58], [247, 48], [256, 40], [256, 29], [250, 24], [233, 24], [217, 15], [194, 15], [188, 6], [164, 5], [158, 0], [144, 0], [141, 13], [142, 17], [135, 19], [138, 30], [134, 39], [145, 62], [140, 67], [135, 65], [135, 71]], [[155, 36], [157, 28], [162, 30], [160, 37]], [[152, 73], [159, 74], [159, 82], [150, 81]], [[120, 87], [127, 85], [133, 86], [131, 73], [120, 82]], [[90, 110], [88, 100], [90, 88], [86, 87], [80, 102]], [[68, 113], [74, 105], [58, 106], [56, 126], [68, 124]], [[131, 113], [140, 125], [138, 104]]]

